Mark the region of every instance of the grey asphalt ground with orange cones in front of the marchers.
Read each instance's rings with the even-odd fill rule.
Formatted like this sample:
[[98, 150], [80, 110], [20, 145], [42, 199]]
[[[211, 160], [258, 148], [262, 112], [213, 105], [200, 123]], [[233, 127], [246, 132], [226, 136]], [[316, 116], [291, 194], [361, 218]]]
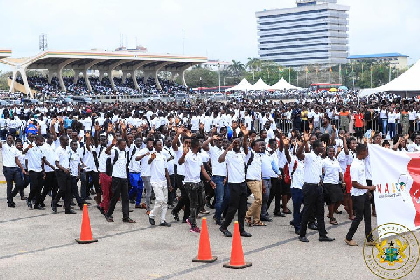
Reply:
[[[252, 266], [237, 270], [222, 266], [230, 260], [232, 237], [218, 230], [214, 209], [204, 216], [211, 251], [218, 260], [200, 264], [191, 261], [197, 255], [200, 235], [189, 232], [187, 224], [175, 222], [170, 209], [167, 221], [172, 227], [163, 228], [152, 226], [144, 209], [130, 214], [137, 223], [123, 223], [120, 203], [113, 214], [115, 222], [108, 223], [91, 204], [92, 234], [99, 241], [78, 244], [74, 239], [80, 237], [82, 211], [76, 209], [78, 213], [71, 215], [59, 209], [54, 214], [50, 207], [40, 211], [29, 209], [24, 200], [15, 202], [15, 209], [6, 206], [6, 186], [1, 184], [0, 279], [379, 279], [364, 262], [363, 221], [354, 237], [360, 245], [344, 244], [351, 221], [342, 207], [343, 214], [335, 215], [338, 225], [330, 225], [325, 218], [328, 236], [337, 239], [330, 243], [319, 242], [316, 230], [308, 230], [309, 243], [298, 241], [289, 225], [291, 214], [274, 217], [267, 227], [245, 225], [253, 236], [241, 239], [244, 258]], [[50, 204], [50, 197], [45, 204]], [[229, 229], [233, 232], [233, 224]], [[420, 240], [420, 233], [414, 234]], [[419, 275], [417, 265], [405, 279]]]

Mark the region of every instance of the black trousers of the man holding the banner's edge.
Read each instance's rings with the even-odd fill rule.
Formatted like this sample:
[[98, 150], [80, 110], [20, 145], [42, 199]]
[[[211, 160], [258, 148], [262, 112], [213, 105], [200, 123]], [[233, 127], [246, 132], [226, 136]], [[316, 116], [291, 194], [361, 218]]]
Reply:
[[356, 211], [356, 218], [354, 218], [353, 222], [351, 222], [349, 232], [347, 232], [346, 239], [351, 240], [353, 239], [354, 234], [360, 225], [360, 222], [365, 219], [365, 235], [367, 240], [371, 241], [373, 239], [370, 232], [372, 232], [372, 225], [370, 224], [371, 221], [371, 213], [370, 213], [370, 198], [369, 192], [364, 193], [363, 195], [352, 195], [351, 199], [353, 200], [353, 208]]

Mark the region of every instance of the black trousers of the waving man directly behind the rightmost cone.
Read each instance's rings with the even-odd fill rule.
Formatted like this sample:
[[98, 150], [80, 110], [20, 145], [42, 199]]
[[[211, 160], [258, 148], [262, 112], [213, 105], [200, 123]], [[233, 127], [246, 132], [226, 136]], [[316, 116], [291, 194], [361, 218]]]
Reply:
[[239, 231], [244, 232], [245, 213], [247, 210], [246, 200], [248, 193], [246, 190], [246, 183], [228, 183], [230, 191], [230, 201], [228, 206], [228, 213], [225, 221], [222, 223], [223, 229], [227, 229], [232, 220], [235, 218], [236, 211], [238, 211]]

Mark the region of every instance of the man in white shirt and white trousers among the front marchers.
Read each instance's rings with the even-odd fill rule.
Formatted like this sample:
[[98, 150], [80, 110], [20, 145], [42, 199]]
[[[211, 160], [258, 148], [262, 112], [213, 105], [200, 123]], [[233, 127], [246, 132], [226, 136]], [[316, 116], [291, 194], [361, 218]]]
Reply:
[[167, 202], [168, 202], [168, 186], [172, 190], [171, 179], [168, 174], [168, 163], [166, 156], [162, 153], [162, 140], [153, 141], [155, 151], [148, 156], [148, 165], [151, 165], [151, 184], [155, 192], [155, 206], [151, 214], [149, 214], [149, 222], [155, 225], [155, 218], [160, 212], [160, 223], [162, 227], [170, 227], [171, 224], [166, 222]]

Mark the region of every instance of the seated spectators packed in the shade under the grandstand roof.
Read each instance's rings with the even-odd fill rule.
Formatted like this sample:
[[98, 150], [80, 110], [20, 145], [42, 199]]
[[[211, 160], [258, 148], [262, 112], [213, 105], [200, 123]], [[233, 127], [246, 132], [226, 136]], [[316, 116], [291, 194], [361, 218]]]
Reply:
[[[134, 86], [132, 77], [127, 77], [123, 83], [123, 78], [114, 77], [113, 82], [115, 90], [111, 87], [111, 81], [108, 76], [99, 79], [98, 77], [89, 77], [92, 90], [88, 90], [85, 83], [85, 78], [79, 77], [74, 83], [73, 77], [63, 77], [66, 92], [62, 92], [59, 80], [57, 77], [52, 77], [51, 82], [48, 83], [47, 76], [29, 76], [27, 77], [29, 87], [36, 90], [39, 96], [54, 97], [59, 94], [73, 94], [73, 95], [137, 95], [137, 94], [160, 94], [163, 92], [187, 92], [188, 88], [184, 85], [179, 85], [172, 80], [159, 80], [162, 90], [158, 90], [155, 83], [155, 78], [149, 77], [146, 81], [144, 77], [137, 77], [137, 84], [139, 90]], [[23, 84], [21, 76], [16, 77], [18, 83]]]

